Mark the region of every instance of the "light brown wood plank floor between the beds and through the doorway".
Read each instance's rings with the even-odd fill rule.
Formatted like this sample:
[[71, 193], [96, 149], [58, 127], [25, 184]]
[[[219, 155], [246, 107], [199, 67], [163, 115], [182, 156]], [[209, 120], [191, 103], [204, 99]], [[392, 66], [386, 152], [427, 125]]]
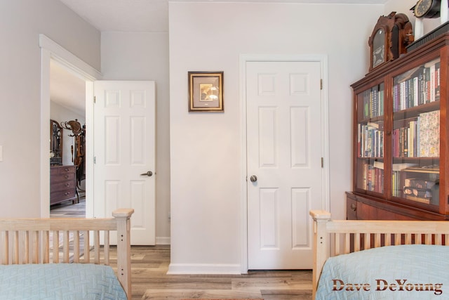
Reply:
[[[79, 204], [58, 205], [51, 210], [51, 216], [82, 217], [84, 203], [81, 200]], [[250, 271], [248, 275], [167, 275], [169, 264], [169, 246], [131, 247], [133, 300], [311, 299], [311, 270]]]

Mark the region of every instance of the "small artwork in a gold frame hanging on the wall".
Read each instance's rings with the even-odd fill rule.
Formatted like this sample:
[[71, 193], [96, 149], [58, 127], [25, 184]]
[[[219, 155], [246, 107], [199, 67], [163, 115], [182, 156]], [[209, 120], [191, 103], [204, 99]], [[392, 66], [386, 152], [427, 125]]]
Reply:
[[189, 72], [189, 112], [223, 111], [223, 72]]

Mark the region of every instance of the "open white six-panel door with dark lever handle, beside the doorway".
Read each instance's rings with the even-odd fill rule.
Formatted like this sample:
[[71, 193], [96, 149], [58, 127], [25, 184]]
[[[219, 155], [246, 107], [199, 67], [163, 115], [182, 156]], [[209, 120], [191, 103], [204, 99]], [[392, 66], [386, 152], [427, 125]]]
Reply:
[[94, 216], [111, 216], [119, 207], [133, 208], [131, 244], [153, 245], [154, 81], [95, 81], [94, 96]]

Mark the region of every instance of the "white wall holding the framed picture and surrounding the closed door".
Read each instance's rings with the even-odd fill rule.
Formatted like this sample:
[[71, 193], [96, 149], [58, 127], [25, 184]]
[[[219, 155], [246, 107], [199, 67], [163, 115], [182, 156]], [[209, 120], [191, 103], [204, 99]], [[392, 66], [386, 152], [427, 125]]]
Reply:
[[[326, 54], [330, 208], [351, 190], [350, 84], [368, 72], [382, 5], [170, 2], [171, 264], [173, 272], [241, 263], [241, 54]], [[187, 112], [187, 72], [224, 71], [225, 112]]]

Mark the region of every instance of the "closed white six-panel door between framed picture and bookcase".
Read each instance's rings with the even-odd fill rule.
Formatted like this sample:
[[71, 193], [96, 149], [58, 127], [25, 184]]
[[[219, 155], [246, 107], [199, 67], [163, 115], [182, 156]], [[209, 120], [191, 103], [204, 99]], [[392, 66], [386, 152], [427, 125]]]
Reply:
[[321, 209], [318, 61], [246, 62], [248, 269], [313, 263], [310, 209]]

